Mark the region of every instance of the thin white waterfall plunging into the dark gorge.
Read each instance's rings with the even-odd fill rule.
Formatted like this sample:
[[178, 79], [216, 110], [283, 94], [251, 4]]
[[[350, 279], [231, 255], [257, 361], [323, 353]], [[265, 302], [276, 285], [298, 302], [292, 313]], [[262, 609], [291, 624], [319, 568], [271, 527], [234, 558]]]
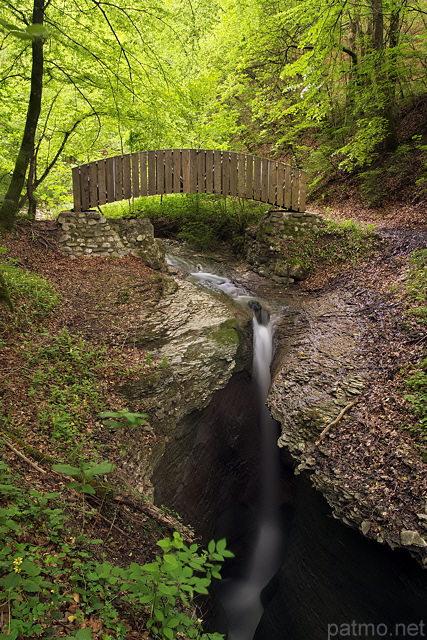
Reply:
[[282, 532], [278, 516], [279, 451], [277, 424], [265, 405], [270, 386], [273, 330], [268, 313], [250, 302], [253, 318], [253, 376], [261, 432], [259, 522], [246, 576], [231, 580], [221, 601], [228, 618], [229, 640], [252, 640], [263, 613], [261, 592], [280, 564]]

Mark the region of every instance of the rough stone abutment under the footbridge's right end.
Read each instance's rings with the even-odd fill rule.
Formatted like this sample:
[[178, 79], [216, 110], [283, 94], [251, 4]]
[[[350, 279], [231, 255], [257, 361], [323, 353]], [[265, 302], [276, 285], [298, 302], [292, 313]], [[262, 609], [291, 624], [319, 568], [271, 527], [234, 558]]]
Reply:
[[280, 284], [304, 280], [308, 269], [304, 262], [286, 254], [279, 240], [298, 238], [317, 231], [324, 224], [317, 213], [269, 211], [260, 224], [246, 234], [246, 259], [251, 268]]

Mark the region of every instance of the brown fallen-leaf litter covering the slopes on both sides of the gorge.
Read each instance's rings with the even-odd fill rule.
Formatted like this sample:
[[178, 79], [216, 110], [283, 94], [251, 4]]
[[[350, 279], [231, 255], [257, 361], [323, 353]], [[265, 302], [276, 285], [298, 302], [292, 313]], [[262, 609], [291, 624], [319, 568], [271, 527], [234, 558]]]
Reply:
[[[320, 208], [313, 209], [322, 212]], [[368, 262], [322, 268], [298, 285], [301, 293], [307, 295], [338, 286], [346, 289], [364, 309], [371, 326], [361, 341], [361, 355], [370, 363], [375, 376], [369, 392], [359, 403], [359, 417], [354, 423], [360, 432], [360, 447], [355, 454], [357, 465], [346, 464], [348, 423], [346, 428], [337, 426], [331, 455], [327, 461], [319, 460], [319, 464], [341, 468], [346, 481], [355, 486], [360, 477], [354, 469], [364, 466], [369, 491], [375, 491], [382, 513], [387, 512], [387, 516], [382, 516], [384, 520], [388, 520], [393, 530], [414, 529], [415, 523], [419, 524], [417, 513], [420, 510], [425, 513], [426, 509], [427, 465], [421, 456], [425, 443], [416, 432], [409, 430], [415, 417], [404, 399], [404, 379], [421, 360], [426, 335], [423, 325], [408, 315], [415, 303], [405, 293], [403, 284], [411, 252], [427, 246], [425, 213], [420, 207], [371, 210], [357, 205], [352, 208], [346, 203], [333, 207], [333, 216], [374, 224], [385, 243]], [[76, 445], [97, 459], [117, 462], [123, 455], [123, 430], [107, 431], [97, 416], [100, 411], [129, 409], [117, 388], [126, 376], [140, 376], [144, 372], [150, 375], [160, 366], [147, 351], [139, 348], [136, 338], [138, 309], [141, 305], [157, 304], [162, 295], [162, 279], [132, 257], [118, 260], [64, 257], [57, 249], [55, 224], [49, 221], [19, 226], [15, 233], [2, 240], [2, 245], [17, 265], [52, 282], [62, 300], [47, 320], [34, 323], [23, 320], [22, 326], [8, 322], [11, 314], [1, 309], [4, 315], [0, 375], [4, 385], [0, 392], [0, 424], [6, 429], [6, 441], [9, 425], [13, 425], [10, 433], [17, 437], [9, 442], [24, 454], [26, 461], [9, 446], [4, 450], [4, 458], [24, 486], [61, 494], [75, 528], [103, 540], [96, 551], [100, 558], [106, 554], [122, 566], [130, 560], [147, 562], [153, 557], [156, 541], [179, 526], [179, 522], [173, 517], [168, 521], [167, 514], [161, 512], [150, 514], [146, 496], [136, 495], [126, 485], [126, 478], [117, 472], [113, 475], [119, 487], [115, 500], [97, 508], [90, 517], [82, 515], [81, 496], [66, 489], [64, 478], [51, 470], [51, 461], [69, 459], [70, 448]], [[264, 280], [263, 284], [263, 293], [268, 295], [268, 283]], [[39, 356], [46, 353], [47, 347], [53, 345], [59, 350], [64, 347], [58, 342], [55, 347], [52, 342], [52, 336], [64, 330], [69, 335], [78, 333], [90, 346], [93, 359], [88, 361], [88, 366], [96, 371], [96, 379], [91, 378], [94, 390], [87, 399], [88, 408], [85, 409], [84, 402], [74, 407], [80, 414], [78, 429], [66, 433], [64, 438], [58, 428], [55, 440], [52, 427], [43, 424], [40, 415], [43, 409], [51, 410], [49, 397], [60, 381], [46, 378], [40, 385], [37, 372]], [[82, 344], [69, 344], [68, 348], [85, 350]], [[66, 361], [64, 366], [67, 367]], [[57, 375], [58, 371], [53, 373]], [[143, 407], [130, 410], [143, 411]], [[369, 420], [361, 420], [361, 413], [365, 418], [369, 416]], [[155, 434], [142, 429], [141, 438], [151, 447]], [[378, 450], [382, 454], [368, 455], [378, 443], [381, 443]], [[41, 471], [28, 462], [34, 461], [31, 447], [50, 456], [47, 464], [43, 463], [43, 456], [38, 460]], [[401, 456], [396, 453], [399, 451], [403, 452]], [[393, 518], [398, 520], [393, 523]], [[78, 628], [77, 623], [67, 621], [67, 613], [64, 612], [62, 626], [56, 629], [58, 636], [65, 637]], [[128, 640], [148, 637], [141, 630], [140, 621], [132, 620], [129, 612], [125, 612], [124, 619], [129, 629]], [[87, 619], [84, 625], [92, 628], [94, 637], [101, 637], [96, 616]]]

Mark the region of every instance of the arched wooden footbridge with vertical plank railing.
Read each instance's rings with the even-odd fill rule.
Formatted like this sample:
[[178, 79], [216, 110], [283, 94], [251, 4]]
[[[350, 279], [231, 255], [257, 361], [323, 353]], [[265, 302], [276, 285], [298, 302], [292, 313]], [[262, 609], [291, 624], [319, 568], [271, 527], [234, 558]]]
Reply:
[[103, 158], [73, 169], [74, 211], [170, 193], [212, 193], [305, 211], [306, 174], [257, 156], [162, 149]]

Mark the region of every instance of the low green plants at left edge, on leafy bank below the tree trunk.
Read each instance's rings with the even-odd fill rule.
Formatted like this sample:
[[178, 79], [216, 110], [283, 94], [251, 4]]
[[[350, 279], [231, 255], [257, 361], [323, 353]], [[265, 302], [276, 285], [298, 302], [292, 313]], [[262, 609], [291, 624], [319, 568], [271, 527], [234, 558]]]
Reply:
[[13, 313], [2, 314], [0, 330], [10, 327], [24, 331], [32, 323], [48, 317], [60, 303], [59, 294], [41, 276], [17, 266], [17, 260], [0, 259], [0, 273], [13, 305]]

